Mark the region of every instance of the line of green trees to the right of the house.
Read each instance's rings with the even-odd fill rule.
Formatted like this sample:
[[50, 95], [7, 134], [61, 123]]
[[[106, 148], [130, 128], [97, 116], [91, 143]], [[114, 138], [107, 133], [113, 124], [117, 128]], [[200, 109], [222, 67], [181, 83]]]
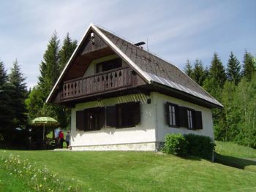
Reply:
[[256, 62], [247, 51], [242, 62], [231, 52], [225, 67], [214, 53], [209, 68], [188, 60], [184, 72], [224, 105], [213, 110], [215, 139], [256, 147]]

